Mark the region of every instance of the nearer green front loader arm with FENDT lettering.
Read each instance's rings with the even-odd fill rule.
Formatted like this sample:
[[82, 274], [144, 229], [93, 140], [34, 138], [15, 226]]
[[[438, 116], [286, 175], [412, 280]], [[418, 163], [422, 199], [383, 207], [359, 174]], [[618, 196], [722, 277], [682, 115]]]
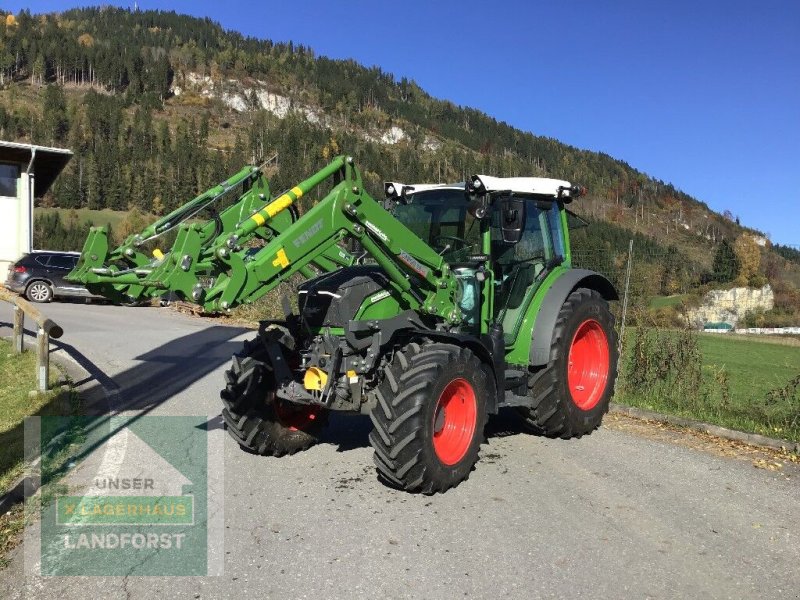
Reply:
[[[334, 186], [322, 200], [299, 219], [276, 227], [298, 198], [330, 178]], [[270, 228], [278, 233], [265, 238], [263, 247], [243, 245], [257, 231]], [[312, 276], [312, 265], [331, 270], [352, 264], [352, 255], [341, 246], [348, 238], [358, 240], [383, 268], [409, 308], [451, 323], [461, 320], [458, 282], [449, 266], [364, 191], [352, 159], [344, 156], [227, 227], [211, 242], [202, 226], [182, 224], [170, 252], [152, 268], [103, 271], [91, 266], [92, 255], [85, 249], [74, 275], [97, 285], [172, 290], [206, 310], [227, 310], [257, 300], [297, 272]]]

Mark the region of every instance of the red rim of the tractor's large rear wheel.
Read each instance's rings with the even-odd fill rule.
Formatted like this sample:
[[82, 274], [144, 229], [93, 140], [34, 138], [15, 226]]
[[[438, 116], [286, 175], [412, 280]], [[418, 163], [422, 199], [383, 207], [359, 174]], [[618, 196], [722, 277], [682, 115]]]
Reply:
[[572, 401], [591, 410], [606, 389], [609, 371], [608, 337], [594, 319], [581, 323], [569, 347], [567, 385]]

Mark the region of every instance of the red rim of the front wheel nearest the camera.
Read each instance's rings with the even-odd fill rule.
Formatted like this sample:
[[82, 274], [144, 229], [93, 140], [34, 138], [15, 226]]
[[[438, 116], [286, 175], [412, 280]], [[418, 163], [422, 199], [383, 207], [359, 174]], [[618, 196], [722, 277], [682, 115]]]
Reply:
[[467, 455], [477, 422], [475, 390], [466, 379], [454, 379], [433, 411], [433, 449], [443, 464], [454, 465]]

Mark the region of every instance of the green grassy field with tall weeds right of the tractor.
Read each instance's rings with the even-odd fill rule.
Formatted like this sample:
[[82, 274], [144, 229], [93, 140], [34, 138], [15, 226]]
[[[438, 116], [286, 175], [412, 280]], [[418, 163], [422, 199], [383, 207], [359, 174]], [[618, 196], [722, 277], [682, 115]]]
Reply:
[[[648, 345], [639, 348], [637, 357], [639, 334], [633, 329], [626, 335], [617, 401], [800, 441], [796, 340], [651, 330]], [[642, 358], [641, 350], [648, 358]], [[639, 378], [637, 386], [638, 373], [648, 369], [650, 378]]]

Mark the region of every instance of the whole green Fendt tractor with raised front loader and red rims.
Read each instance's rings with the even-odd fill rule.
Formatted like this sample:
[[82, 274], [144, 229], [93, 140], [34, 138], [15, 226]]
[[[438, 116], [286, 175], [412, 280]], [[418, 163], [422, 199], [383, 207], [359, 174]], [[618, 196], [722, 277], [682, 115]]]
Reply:
[[245, 167], [114, 250], [92, 228], [69, 277], [112, 301], [172, 292], [224, 312], [299, 275], [298, 314], [284, 297], [285, 318], [262, 321], [225, 374], [228, 433], [280, 456], [315, 443], [330, 411], [369, 414], [379, 477], [432, 494], [469, 476], [500, 408], [560, 438], [607, 412], [618, 297], [571, 266], [565, 205], [584, 191], [475, 175], [386, 183], [377, 201], [339, 156], [273, 198]]

